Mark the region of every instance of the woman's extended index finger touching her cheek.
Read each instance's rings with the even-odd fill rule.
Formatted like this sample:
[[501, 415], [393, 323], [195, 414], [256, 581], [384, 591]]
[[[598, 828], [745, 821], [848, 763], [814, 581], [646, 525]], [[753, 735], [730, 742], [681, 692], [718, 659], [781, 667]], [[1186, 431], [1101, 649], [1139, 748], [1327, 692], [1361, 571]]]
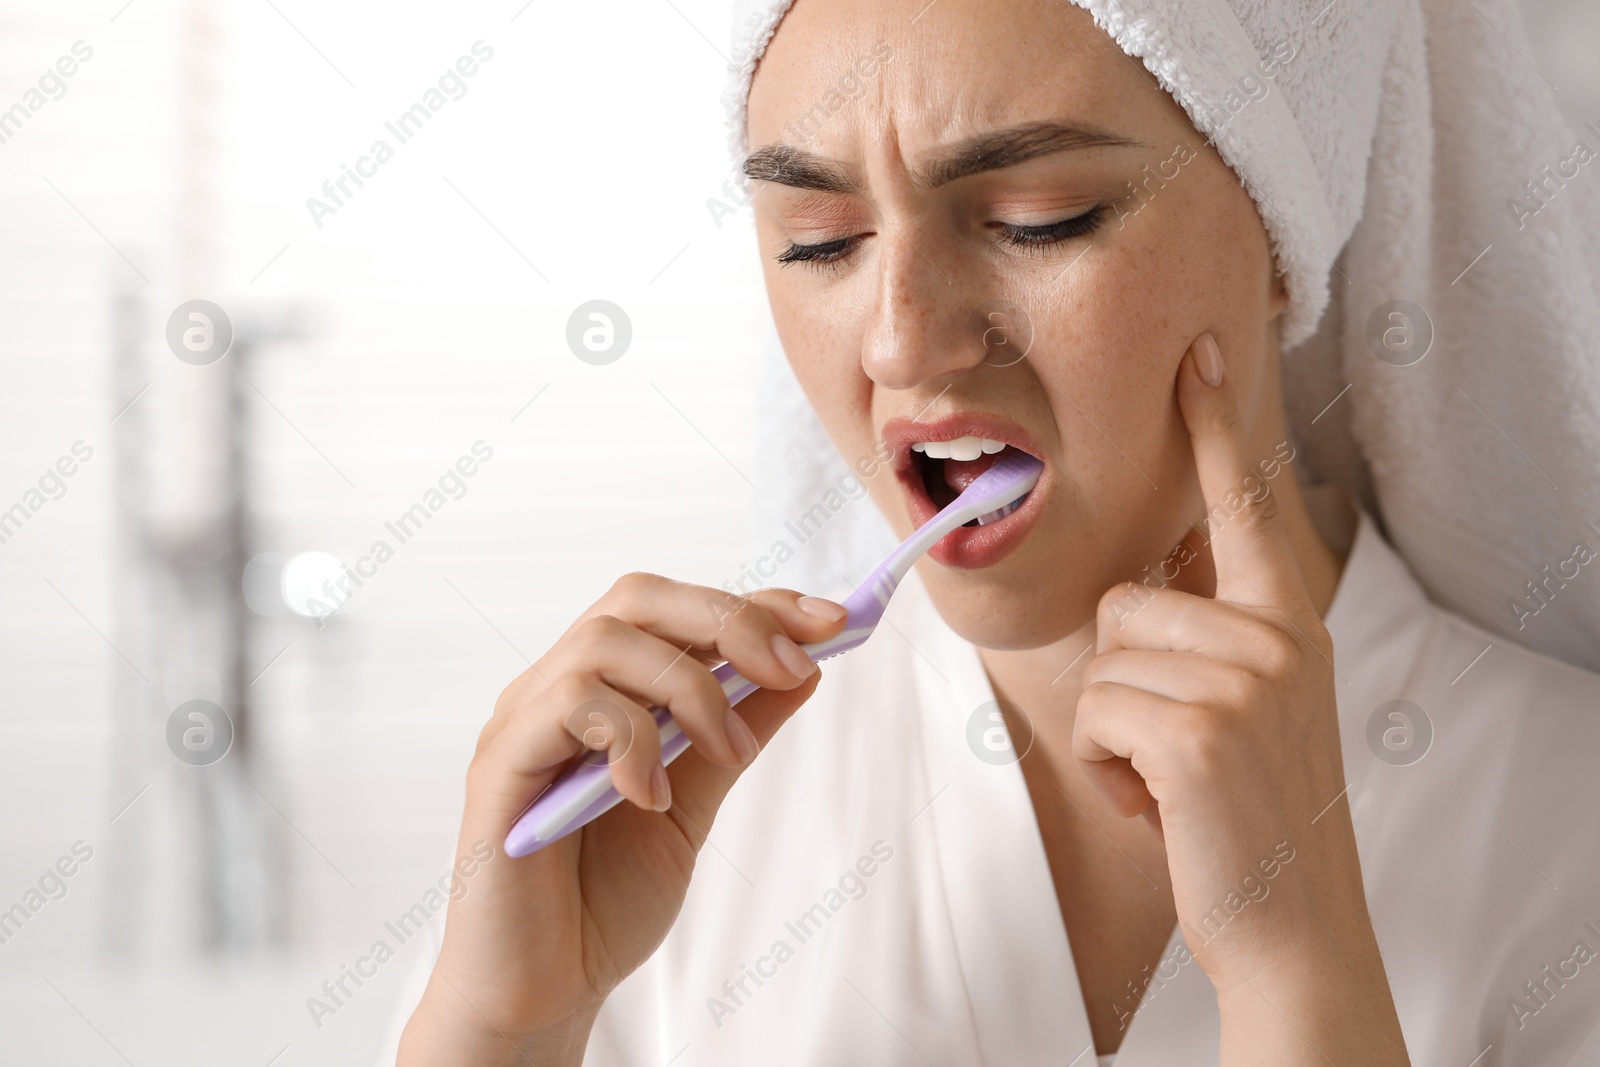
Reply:
[[1216, 566], [1216, 598], [1283, 606], [1306, 600], [1278, 501], [1250, 454], [1238, 394], [1216, 338], [1195, 338], [1178, 371], [1178, 405], [1189, 427]]

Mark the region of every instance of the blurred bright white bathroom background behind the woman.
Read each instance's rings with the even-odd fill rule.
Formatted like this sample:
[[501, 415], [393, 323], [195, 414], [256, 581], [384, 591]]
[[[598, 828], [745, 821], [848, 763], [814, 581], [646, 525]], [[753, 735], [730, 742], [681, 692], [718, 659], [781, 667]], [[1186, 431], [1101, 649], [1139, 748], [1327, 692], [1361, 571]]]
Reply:
[[[1600, 5], [1522, 6], [1576, 139]], [[307, 1000], [501, 688], [622, 571], [739, 576], [726, 21], [0, 3], [0, 1064], [370, 1062], [416, 947]]]

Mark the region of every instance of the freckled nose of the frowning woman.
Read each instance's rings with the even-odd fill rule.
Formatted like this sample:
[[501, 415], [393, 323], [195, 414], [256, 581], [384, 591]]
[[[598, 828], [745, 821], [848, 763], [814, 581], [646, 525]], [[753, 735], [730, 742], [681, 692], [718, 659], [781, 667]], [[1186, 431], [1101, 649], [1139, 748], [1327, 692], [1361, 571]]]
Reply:
[[966, 272], [934, 262], [930, 240], [890, 224], [880, 232], [878, 299], [861, 349], [867, 378], [902, 390], [982, 363], [982, 315], [960, 283]]

